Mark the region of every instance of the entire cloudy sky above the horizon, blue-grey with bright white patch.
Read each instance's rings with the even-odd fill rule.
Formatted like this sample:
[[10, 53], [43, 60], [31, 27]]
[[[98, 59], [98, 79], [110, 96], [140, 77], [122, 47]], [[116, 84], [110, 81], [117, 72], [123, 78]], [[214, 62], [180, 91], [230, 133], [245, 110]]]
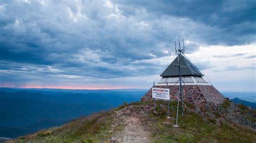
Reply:
[[256, 1], [1, 1], [0, 87], [145, 88], [174, 41], [220, 91], [255, 91]]

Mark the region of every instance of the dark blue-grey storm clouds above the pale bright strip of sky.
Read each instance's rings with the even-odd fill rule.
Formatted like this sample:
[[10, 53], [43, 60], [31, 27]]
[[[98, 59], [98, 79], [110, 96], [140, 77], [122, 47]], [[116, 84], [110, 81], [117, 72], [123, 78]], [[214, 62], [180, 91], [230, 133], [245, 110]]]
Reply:
[[1, 1], [1, 80], [153, 75], [163, 66], [145, 60], [178, 35], [193, 53], [255, 42], [255, 26], [253, 1]]

